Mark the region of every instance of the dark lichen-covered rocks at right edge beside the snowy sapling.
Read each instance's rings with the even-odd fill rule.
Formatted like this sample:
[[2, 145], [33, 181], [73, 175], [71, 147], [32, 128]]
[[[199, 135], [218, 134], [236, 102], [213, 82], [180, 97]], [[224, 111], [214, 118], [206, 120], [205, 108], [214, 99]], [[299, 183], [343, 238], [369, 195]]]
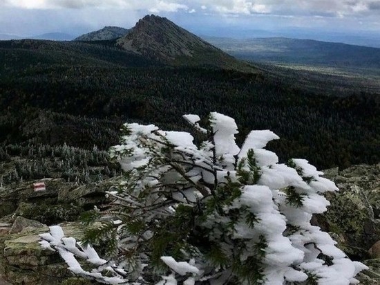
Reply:
[[331, 205], [324, 214], [315, 215], [313, 223], [339, 236], [338, 246], [349, 257], [368, 259], [370, 246], [380, 240], [380, 164], [324, 173], [340, 191], [326, 194]]

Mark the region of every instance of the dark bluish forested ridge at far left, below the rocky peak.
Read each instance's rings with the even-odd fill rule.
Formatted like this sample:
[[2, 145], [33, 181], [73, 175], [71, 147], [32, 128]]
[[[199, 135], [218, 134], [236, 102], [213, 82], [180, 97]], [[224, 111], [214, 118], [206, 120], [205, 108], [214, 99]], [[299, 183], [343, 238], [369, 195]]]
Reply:
[[[99, 42], [51, 41], [41, 39], [19, 39], [0, 42], [1, 57], [6, 66], [19, 68], [21, 66], [151, 66], [149, 59], [140, 55], [126, 53], [115, 46], [115, 40]], [[8, 59], [9, 58], [9, 59]], [[9, 62], [8, 62], [9, 61]], [[0, 75], [6, 67], [0, 66]], [[8, 72], [10, 70], [8, 69]]]

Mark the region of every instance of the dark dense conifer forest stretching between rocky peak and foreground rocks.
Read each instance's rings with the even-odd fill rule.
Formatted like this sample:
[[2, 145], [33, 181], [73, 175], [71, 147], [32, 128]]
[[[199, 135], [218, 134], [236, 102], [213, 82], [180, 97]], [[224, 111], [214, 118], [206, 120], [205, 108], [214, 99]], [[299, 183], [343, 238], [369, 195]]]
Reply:
[[[297, 79], [297, 73], [289, 79], [260, 69], [167, 66], [129, 55], [112, 41], [0, 42], [0, 159], [22, 156], [27, 165], [37, 153], [45, 156], [47, 166], [39, 160], [35, 178], [50, 176], [51, 165], [66, 173], [68, 161], [78, 159], [103, 167], [91, 177], [113, 176], [118, 170], [104, 162], [104, 151], [117, 143], [123, 122], [186, 129], [182, 114], [218, 111], [236, 119], [240, 143], [251, 129], [278, 134], [281, 140], [269, 149], [283, 161], [307, 158], [319, 168], [378, 163], [379, 94], [353, 89], [327, 96], [331, 81], [308, 89]], [[14, 175], [33, 178], [32, 169], [15, 169], [27, 174]], [[79, 179], [80, 173], [65, 175]]]

